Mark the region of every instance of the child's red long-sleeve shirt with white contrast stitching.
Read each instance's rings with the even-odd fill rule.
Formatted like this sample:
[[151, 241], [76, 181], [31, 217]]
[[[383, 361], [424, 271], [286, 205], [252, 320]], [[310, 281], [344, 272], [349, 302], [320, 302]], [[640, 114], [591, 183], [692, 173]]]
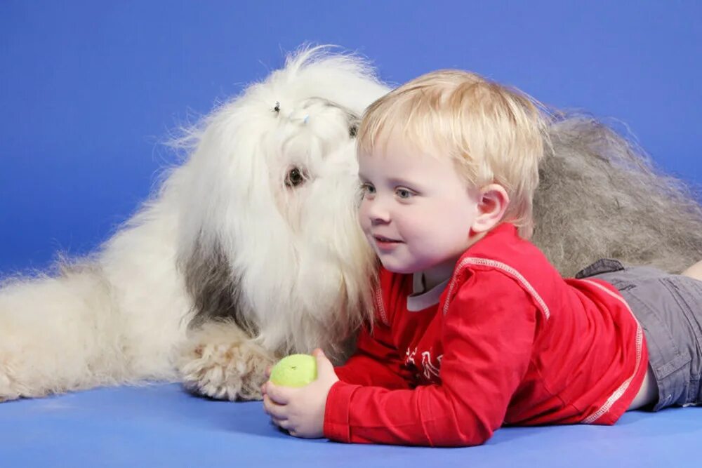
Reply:
[[644, 336], [621, 295], [562, 279], [512, 225], [471, 246], [443, 290], [416, 297], [412, 283], [380, 272], [376, 323], [336, 368], [329, 439], [470, 446], [503, 424], [614, 424], [641, 386]]

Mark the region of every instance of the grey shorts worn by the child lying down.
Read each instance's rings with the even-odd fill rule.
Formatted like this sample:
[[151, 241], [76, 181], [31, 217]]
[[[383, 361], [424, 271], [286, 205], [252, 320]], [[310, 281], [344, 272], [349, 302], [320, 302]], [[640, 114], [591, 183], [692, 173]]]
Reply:
[[654, 411], [702, 403], [702, 281], [598, 260], [576, 274], [617, 288], [641, 323], [658, 385]]

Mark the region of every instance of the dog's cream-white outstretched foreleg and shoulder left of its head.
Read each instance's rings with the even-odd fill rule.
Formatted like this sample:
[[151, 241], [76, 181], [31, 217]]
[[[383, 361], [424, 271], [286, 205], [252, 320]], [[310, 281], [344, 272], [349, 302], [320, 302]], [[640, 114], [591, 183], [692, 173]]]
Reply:
[[176, 215], [154, 203], [91, 262], [0, 288], [0, 400], [176, 380], [192, 304], [176, 271]]

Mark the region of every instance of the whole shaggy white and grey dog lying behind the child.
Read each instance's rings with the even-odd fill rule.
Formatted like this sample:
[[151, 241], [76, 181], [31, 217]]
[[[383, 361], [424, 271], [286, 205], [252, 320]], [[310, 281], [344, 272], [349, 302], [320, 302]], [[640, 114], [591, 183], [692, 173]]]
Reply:
[[[0, 400], [181, 380], [256, 399], [279, 356], [344, 359], [370, 318], [355, 131], [388, 91], [359, 58], [307, 48], [176, 146], [187, 159], [100, 250], [0, 289]], [[560, 115], [534, 241], [564, 274], [702, 258], [702, 210], [601, 123]]]

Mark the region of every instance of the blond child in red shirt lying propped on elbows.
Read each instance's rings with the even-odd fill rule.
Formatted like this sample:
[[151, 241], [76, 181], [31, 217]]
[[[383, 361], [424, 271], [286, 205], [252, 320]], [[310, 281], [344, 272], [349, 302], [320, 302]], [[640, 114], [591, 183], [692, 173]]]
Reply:
[[375, 321], [344, 366], [316, 350], [315, 382], [264, 385], [274, 424], [472, 446], [503, 425], [614, 424], [701, 401], [700, 265], [600, 260], [562, 279], [527, 240], [545, 128], [526, 95], [451, 70], [367, 109], [359, 222], [382, 264]]

